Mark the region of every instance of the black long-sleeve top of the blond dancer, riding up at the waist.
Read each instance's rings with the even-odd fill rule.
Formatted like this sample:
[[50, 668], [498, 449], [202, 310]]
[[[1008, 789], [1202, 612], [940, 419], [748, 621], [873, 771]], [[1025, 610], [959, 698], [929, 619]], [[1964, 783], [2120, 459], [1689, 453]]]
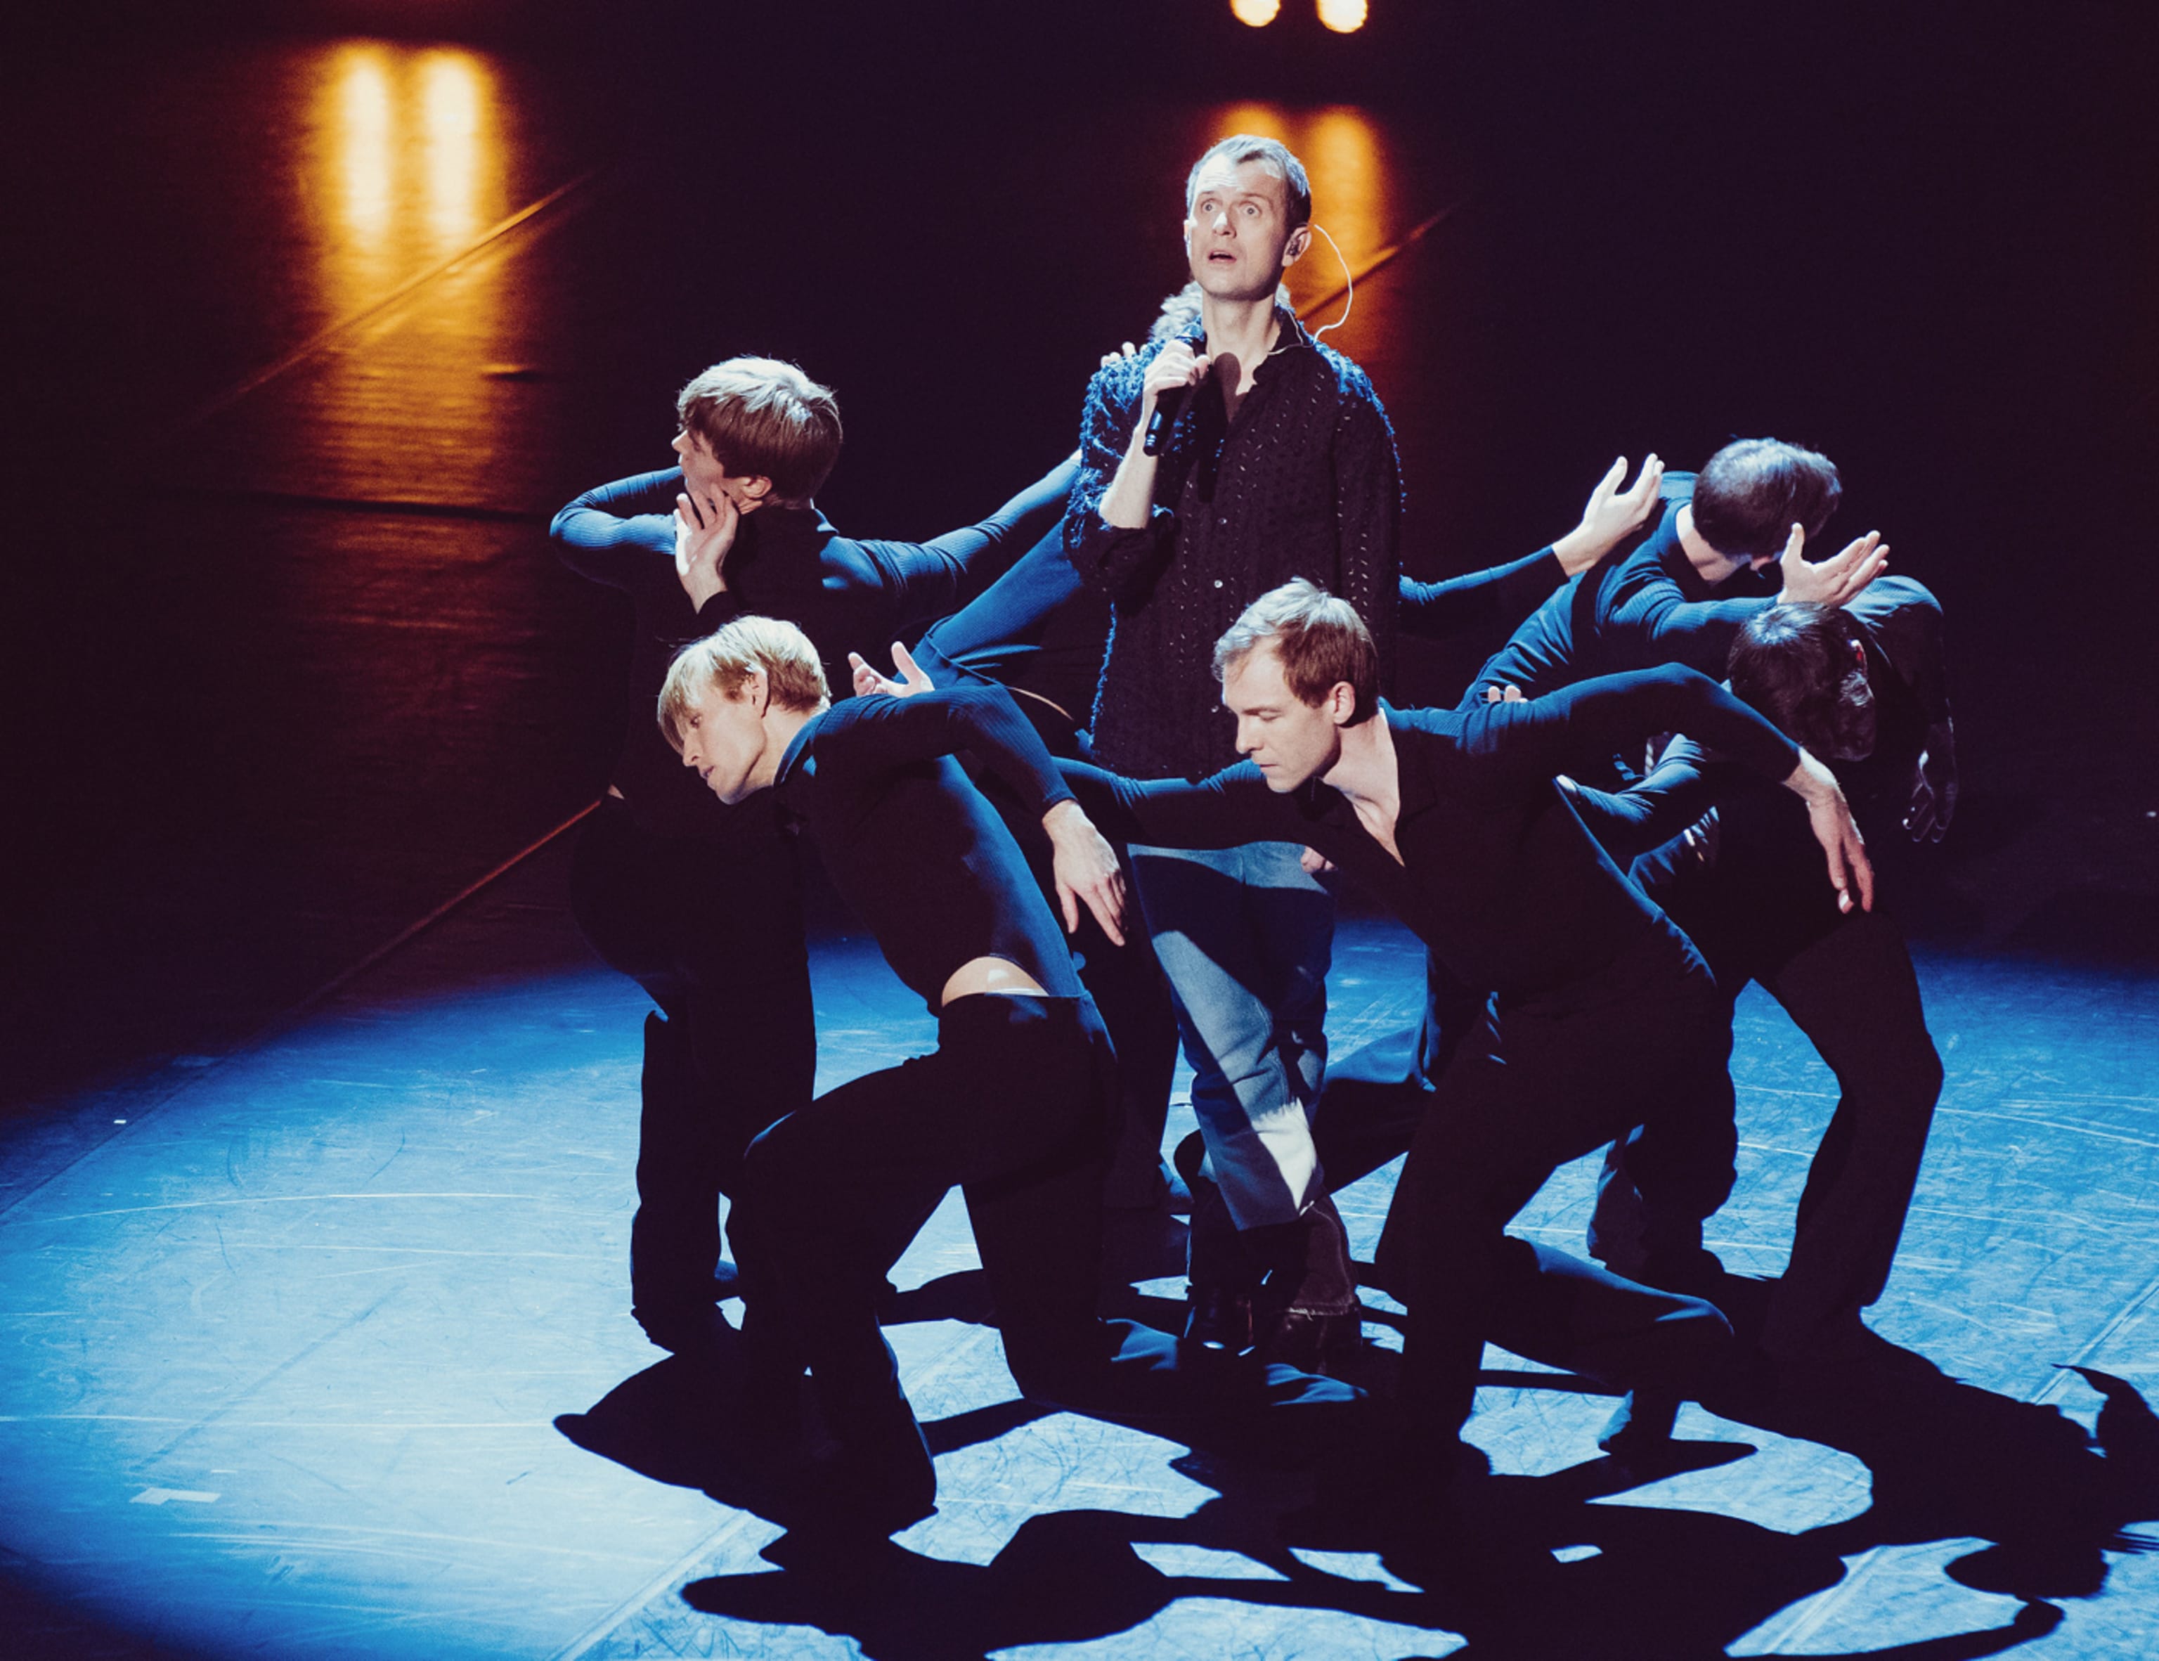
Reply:
[[933, 1013], [952, 972], [976, 957], [1004, 957], [1049, 996], [1077, 998], [1056, 918], [956, 750], [974, 752], [1036, 814], [1073, 795], [1002, 687], [836, 704], [795, 734], [773, 791]]

